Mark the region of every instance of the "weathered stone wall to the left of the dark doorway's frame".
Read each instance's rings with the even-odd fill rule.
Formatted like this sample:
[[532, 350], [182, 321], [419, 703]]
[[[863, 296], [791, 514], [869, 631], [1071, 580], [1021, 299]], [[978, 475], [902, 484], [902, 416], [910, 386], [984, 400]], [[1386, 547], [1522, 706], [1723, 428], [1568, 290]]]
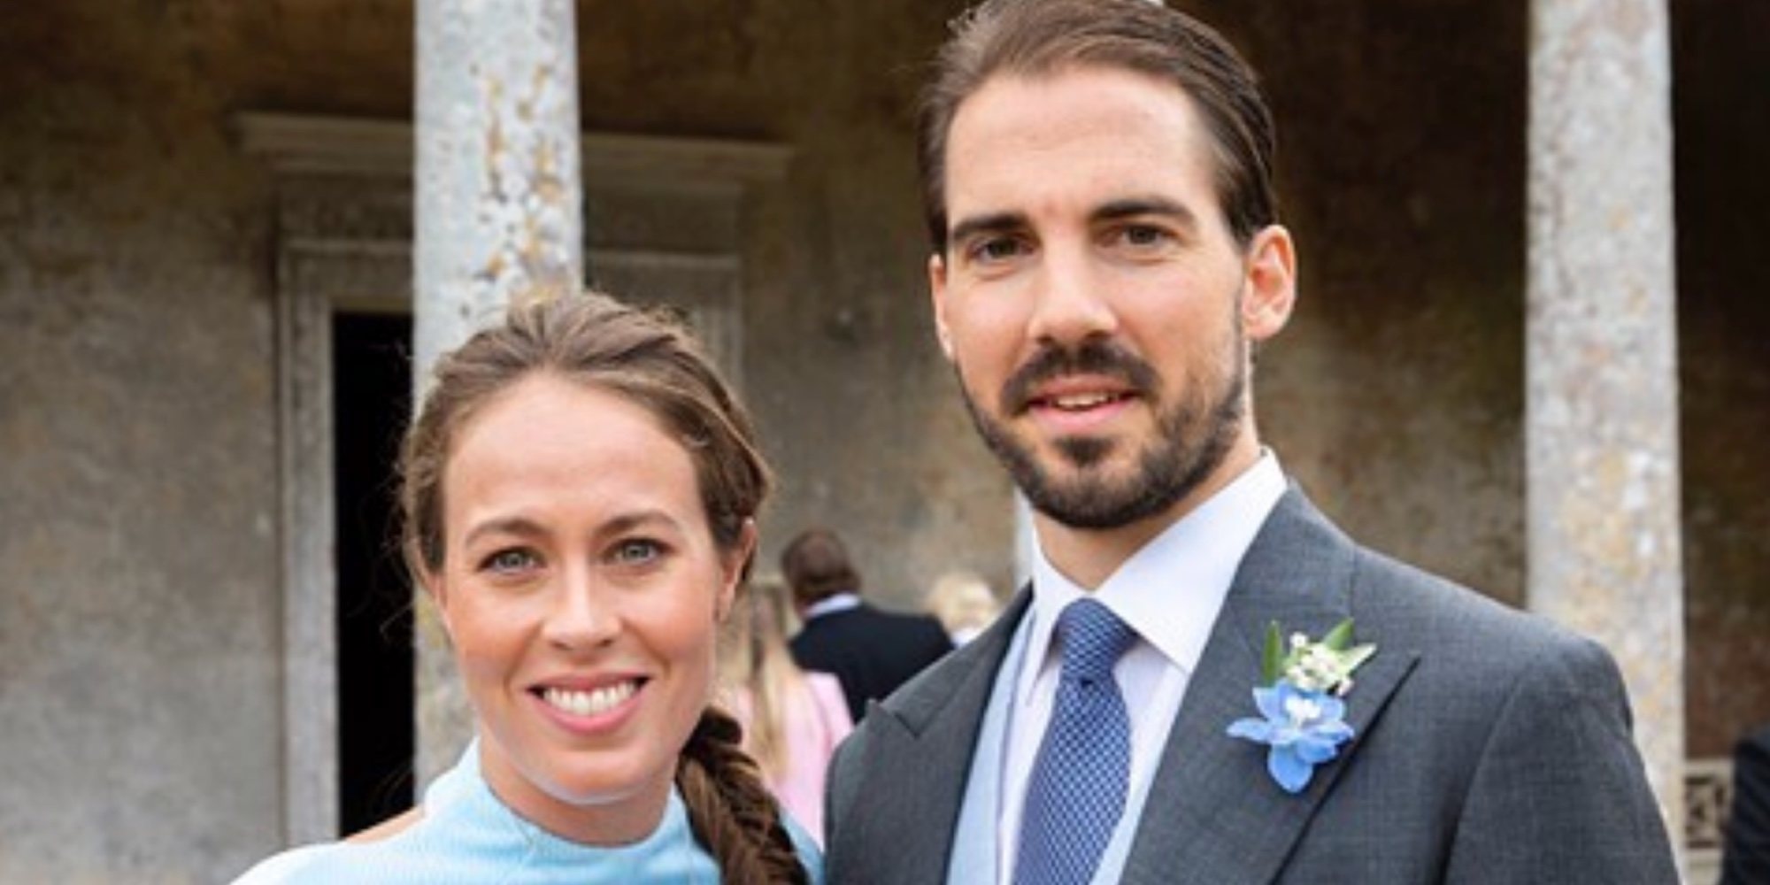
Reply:
[[409, 44], [343, 0], [0, 11], [0, 881], [280, 839], [271, 204], [227, 120], [404, 115]]

